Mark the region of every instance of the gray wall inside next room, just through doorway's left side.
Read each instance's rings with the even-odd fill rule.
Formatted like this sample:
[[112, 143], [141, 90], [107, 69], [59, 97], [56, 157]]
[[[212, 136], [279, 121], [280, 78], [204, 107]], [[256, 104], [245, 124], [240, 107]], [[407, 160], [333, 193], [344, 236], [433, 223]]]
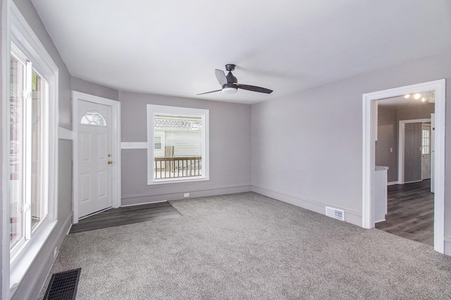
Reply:
[[397, 110], [379, 106], [376, 166], [388, 167], [388, 182], [397, 181], [397, 127]]

